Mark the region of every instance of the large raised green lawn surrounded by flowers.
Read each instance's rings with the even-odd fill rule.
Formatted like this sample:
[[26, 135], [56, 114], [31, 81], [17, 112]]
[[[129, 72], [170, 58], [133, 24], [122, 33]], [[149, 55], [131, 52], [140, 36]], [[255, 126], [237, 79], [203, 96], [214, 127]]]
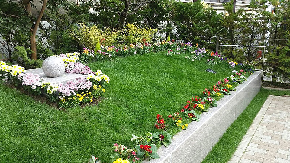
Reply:
[[[110, 76], [105, 99], [97, 106], [58, 110], [0, 85], [0, 162], [86, 163], [90, 155], [109, 162], [114, 143], [133, 147], [131, 134], [156, 132], [158, 113], [169, 124], [169, 133], [176, 134], [167, 116], [229, 76], [231, 69], [227, 63], [209, 66], [205, 59], [191, 62], [186, 54], [165, 53], [89, 64]], [[208, 68], [217, 73], [206, 72]]]

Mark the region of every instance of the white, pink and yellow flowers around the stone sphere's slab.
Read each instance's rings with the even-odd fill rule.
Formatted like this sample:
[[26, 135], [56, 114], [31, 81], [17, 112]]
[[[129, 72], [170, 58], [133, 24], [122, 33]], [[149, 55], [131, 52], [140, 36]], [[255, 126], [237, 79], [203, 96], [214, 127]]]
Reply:
[[[78, 53], [74, 53], [73, 56], [78, 57], [77, 55]], [[33, 95], [48, 97], [49, 101], [57, 102], [59, 107], [92, 103], [102, 93], [105, 93], [106, 90], [103, 85], [110, 81], [110, 78], [103, 74], [101, 70], [93, 72], [88, 66], [74, 61], [68, 61], [65, 71], [87, 76], [58, 85], [46, 82], [39, 75], [24, 73], [24, 71], [25, 68], [22, 66], [9, 66], [5, 62], [0, 62], [0, 81], [10, 81], [16, 86], [23, 87]]]

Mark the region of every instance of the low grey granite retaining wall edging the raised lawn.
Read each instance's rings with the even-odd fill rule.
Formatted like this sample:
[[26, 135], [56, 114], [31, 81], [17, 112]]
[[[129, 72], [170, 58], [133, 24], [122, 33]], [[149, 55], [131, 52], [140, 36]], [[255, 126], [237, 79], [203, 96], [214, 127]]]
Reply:
[[261, 74], [253, 73], [236, 87], [236, 91], [231, 91], [231, 95], [219, 100], [218, 107], [202, 113], [199, 122], [191, 122], [187, 130], [173, 136], [168, 148], [162, 146], [158, 149], [160, 159], [152, 159], [149, 163], [201, 162], [260, 91]]

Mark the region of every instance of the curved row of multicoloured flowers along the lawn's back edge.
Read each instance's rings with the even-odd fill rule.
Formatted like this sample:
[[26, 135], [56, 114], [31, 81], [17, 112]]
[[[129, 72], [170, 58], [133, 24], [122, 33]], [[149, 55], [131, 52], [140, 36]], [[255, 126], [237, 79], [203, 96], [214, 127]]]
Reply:
[[[155, 44], [151, 44], [148, 42], [144, 43], [136, 43], [130, 44], [130, 46], [101, 46], [100, 49], [90, 50], [88, 48], [83, 48], [82, 53], [74, 52], [74, 53], [66, 53], [58, 55], [63, 61], [68, 64], [69, 62], [82, 62], [89, 63], [96, 60], [103, 59], [111, 59], [115, 56], [127, 56], [127, 55], [135, 55], [135, 54], [144, 54], [149, 52], [159, 52], [167, 50], [168, 53], [166, 55], [171, 56], [173, 54], [181, 54], [181, 53], [190, 53], [189, 56], [185, 58], [194, 60], [201, 60], [203, 57], [215, 57], [211, 55], [205, 48], [200, 48], [198, 44], [193, 46], [192, 43], [182, 43], [177, 42], [175, 40], [170, 40], [168, 42], [162, 41]], [[215, 58], [218, 58], [216, 56]]]

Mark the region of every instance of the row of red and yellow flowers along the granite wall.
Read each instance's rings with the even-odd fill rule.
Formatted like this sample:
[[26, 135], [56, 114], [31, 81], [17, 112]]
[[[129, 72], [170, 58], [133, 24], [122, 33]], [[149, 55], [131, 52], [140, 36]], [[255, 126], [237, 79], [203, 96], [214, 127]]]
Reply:
[[[214, 52], [215, 56], [218, 56]], [[220, 56], [218, 56], [220, 58]], [[231, 63], [229, 63], [231, 65]], [[199, 121], [201, 118], [200, 113], [207, 111], [210, 107], [217, 107], [217, 101], [225, 95], [230, 95], [230, 91], [235, 91], [235, 87], [253, 73], [251, 67], [242, 64], [236, 64], [236, 69], [240, 69], [235, 74], [218, 81], [211, 88], [205, 88], [202, 91], [202, 96], [193, 96], [190, 100], [186, 101], [186, 105], [182, 107], [179, 112], [172, 113], [168, 117], [163, 118], [162, 115], [157, 114], [154, 127], [160, 131], [157, 133], [144, 133], [143, 136], [135, 136], [132, 134], [131, 141], [135, 142], [135, 147], [128, 149], [124, 145], [114, 144], [114, 154], [110, 156], [111, 162], [135, 162], [139, 159], [153, 158], [158, 159], [159, 155], [156, 153], [156, 146], [164, 145], [168, 147], [171, 144], [172, 136], [167, 132], [169, 125], [166, 121], [172, 121], [175, 127], [179, 130], [188, 128], [188, 123], [184, 123], [184, 118], [191, 121]], [[232, 67], [232, 66], [230, 66]], [[167, 119], [167, 120], [166, 120]], [[92, 156], [89, 162], [98, 162], [98, 158]]]

